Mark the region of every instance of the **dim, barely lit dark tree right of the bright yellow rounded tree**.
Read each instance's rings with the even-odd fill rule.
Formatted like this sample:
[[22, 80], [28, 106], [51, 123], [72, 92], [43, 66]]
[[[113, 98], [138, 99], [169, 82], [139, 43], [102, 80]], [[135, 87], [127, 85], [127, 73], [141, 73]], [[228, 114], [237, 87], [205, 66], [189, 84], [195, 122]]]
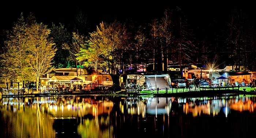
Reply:
[[52, 24], [50, 37], [53, 38], [53, 42], [56, 44], [56, 54], [53, 58], [53, 66], [56, 68], [63, 68], [69, 66], [67, 63], [67, 59], [69, 57], [69, 51], [64, 49], [64, 44], [69, 44], [71, 41], [71, 35], [64, 28], [63, 24], [59, 24], [59, 26]]

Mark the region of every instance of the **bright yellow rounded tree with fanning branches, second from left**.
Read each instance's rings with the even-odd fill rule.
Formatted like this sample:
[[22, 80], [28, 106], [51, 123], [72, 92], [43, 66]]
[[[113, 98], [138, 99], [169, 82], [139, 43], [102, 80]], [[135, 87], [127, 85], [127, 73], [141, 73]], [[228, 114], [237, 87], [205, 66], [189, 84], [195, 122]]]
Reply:
[[38, 91], [40, 77], [53, 69], [51, 64], [56, 49], [53, 40], [49, 39], [50, 30], [42, 23], [31, 24], [25, 32], [27, 52], [29, 53], [26, 62], [34, 74]]

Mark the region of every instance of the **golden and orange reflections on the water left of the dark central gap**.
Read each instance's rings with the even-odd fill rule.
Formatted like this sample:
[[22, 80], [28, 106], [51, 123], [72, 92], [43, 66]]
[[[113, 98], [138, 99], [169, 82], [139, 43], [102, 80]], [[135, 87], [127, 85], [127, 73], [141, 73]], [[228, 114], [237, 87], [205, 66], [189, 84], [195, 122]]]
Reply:
[[108, 97], [2, 98], [1, 126], [8, 127], [3, 127], [0, 136], [105, 137], [113, 133], [109, 126], [112, 108]]

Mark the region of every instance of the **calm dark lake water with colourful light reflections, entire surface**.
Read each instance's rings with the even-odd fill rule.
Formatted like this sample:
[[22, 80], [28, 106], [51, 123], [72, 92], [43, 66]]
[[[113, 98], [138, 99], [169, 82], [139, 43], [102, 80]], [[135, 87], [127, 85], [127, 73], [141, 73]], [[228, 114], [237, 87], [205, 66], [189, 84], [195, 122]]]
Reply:
[[255, 97], [1, 98], [0, 137], [249, 137]]

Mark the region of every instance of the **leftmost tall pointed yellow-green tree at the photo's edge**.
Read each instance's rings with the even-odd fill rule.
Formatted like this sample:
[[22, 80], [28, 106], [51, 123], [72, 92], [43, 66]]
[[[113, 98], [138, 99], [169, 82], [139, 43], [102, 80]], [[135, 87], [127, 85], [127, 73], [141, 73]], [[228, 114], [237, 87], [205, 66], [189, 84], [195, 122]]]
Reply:
[[11, 31], [7, 32], [7, 40], [4, 42], [5, 52], [1, 54], [1, 74], [5, 80], [22, 82], [31, 80], [30, 66], [26, 64], [28, 58], [25, 30], [27, 23], [20, 15], [20, 18]]

